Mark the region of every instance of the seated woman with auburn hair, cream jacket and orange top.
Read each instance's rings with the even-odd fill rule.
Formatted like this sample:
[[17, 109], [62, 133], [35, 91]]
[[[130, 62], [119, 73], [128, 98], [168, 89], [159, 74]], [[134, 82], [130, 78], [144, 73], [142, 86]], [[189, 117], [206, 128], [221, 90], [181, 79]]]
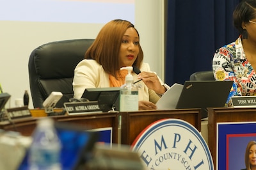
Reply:
[[74, 98], [81, 98], [86, 88], [120, 87], [125, 84], [127, 70], [124, 66], [140, 69], [132, 72], [133, 81], [138, 82], [139, 109], [156, 109], [156, 102], [170, 88], [163, 84], [156, 73], [143, 63], [140, 36], [134, 25], [127, 20], [111, 20], [102, 27], [85, 59], [78, 63], [74, 72]]

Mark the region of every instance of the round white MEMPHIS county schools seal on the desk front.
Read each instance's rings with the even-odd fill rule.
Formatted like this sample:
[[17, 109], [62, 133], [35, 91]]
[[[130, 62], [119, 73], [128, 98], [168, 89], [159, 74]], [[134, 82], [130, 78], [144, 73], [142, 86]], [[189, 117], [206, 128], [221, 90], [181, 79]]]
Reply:
[[132, 144], [147, 169], [214, 169], [204, 138], [183, 120], [164, 119], [149, 125]]

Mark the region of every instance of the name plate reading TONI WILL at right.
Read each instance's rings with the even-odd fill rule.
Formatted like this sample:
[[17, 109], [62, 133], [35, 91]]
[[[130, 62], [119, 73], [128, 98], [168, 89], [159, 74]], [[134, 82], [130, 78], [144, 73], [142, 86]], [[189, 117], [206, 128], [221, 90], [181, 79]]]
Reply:
[[256, 96], [231, 97], [234, 107], [256, 107]]

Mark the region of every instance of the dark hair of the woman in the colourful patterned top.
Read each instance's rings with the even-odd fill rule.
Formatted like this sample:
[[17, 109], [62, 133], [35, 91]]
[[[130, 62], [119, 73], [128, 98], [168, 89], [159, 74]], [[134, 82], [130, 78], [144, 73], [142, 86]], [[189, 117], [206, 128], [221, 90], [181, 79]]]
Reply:
[[255, 0], [243, 0], [237, 6], [233, 12], [233, 22], [236, 29], [240, 34], [243, 33], [242, 23], [248, 23], [249, 20], [256, 17], [256, 1]]

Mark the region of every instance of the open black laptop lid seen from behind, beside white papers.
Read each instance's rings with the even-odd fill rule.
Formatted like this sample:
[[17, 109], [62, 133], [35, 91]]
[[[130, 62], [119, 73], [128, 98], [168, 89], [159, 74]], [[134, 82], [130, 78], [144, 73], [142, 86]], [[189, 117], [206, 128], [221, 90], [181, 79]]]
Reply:
[[225, 106], [233, 83], [233, 81], [186, 81], [176, 108], [202, 108], [202, 118], [206, 118], [207, 107]]

